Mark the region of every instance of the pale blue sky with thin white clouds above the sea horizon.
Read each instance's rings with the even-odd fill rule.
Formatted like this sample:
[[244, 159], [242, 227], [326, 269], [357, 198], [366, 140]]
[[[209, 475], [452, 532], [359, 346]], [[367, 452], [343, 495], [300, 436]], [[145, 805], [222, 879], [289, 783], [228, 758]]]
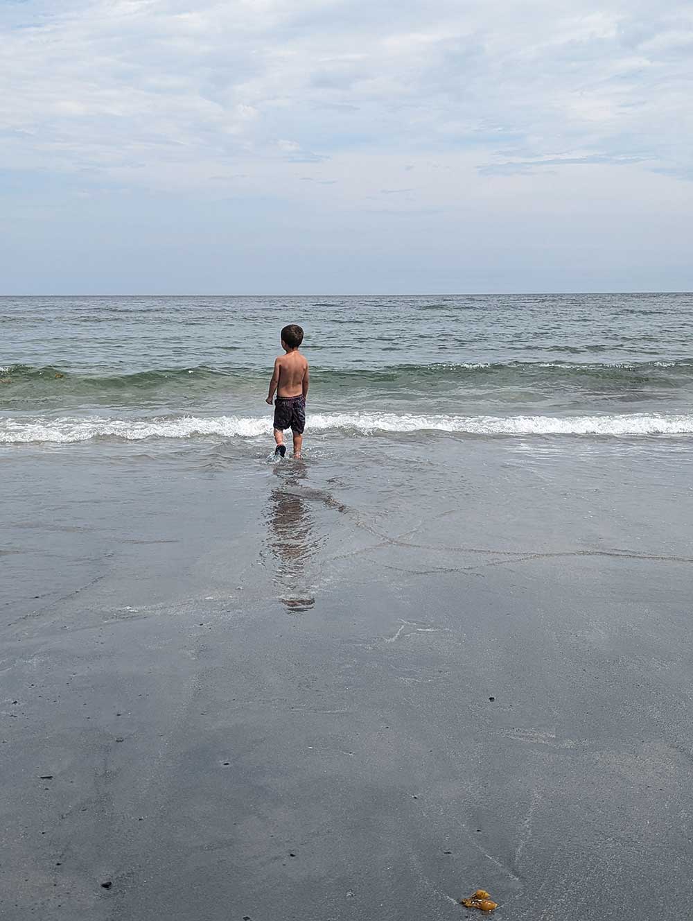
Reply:
[[0, 294], [693, 289], [693, 5], [0, 0]]

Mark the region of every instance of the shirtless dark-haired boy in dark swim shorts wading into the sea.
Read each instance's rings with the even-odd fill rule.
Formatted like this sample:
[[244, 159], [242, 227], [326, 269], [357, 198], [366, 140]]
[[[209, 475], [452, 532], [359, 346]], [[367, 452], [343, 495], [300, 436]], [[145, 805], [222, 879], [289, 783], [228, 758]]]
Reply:
[[306, 427], [306, 396], [308, 395], [308, 363], [298, 351], [303, 342], [303, 330], [295, 323], [284, 326], [282, 348], [286, 355], [274, 362], [270, 381], [270, 393], [265, 402], [270, 405], [274, 391], [277, 402], [274, 406], [274, 440], [277, 447], [275, 457], [286, 453], [283, 430], [291, 428], [294, 433], [294, 457], [300, 458], [303, 444], [303, 430]]

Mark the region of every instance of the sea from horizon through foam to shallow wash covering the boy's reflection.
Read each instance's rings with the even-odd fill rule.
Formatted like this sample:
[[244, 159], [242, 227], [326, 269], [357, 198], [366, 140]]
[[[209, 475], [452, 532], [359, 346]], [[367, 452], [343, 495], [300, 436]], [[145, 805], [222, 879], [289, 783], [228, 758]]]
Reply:
[[[289, 322], [303, 465], [271, 462], [265, 402]], [[691, 295], [6, 297], [0, 325], [11, 597], [153, 528], [162, 565], [241, 534], [284, 598], [373, 533], [691, 555]]]

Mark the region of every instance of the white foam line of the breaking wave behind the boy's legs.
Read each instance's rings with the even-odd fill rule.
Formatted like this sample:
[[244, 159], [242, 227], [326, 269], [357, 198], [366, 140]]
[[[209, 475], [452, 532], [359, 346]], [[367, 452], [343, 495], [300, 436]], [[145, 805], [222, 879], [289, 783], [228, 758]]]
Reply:
[[[0, 422], [0, 444], [65, 444], [97, 438], [143, 441], [147, 438], [252, 438], [269, 432], [266, 416], [179, 416], [154, 419], [62, 417], [5, 419]], [[693, 435], [693, 414], [611, 415], [409, 415], [392, 413], [315, 414], [308, 431], [343, 431], [354, 435], [378, 433], [451, 432], [487, 436]]]

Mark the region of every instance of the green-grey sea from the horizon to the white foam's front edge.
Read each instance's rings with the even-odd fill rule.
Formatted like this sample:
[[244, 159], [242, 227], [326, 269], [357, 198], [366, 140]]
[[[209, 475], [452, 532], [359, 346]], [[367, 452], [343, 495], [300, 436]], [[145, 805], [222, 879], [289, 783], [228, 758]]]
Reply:
[[[693, 295], [0, 298], [0, 444], [261, 456], [284, 323], [335, 438], [693, 436]], [[568, 447], [568, 446], [566, 446]]]

